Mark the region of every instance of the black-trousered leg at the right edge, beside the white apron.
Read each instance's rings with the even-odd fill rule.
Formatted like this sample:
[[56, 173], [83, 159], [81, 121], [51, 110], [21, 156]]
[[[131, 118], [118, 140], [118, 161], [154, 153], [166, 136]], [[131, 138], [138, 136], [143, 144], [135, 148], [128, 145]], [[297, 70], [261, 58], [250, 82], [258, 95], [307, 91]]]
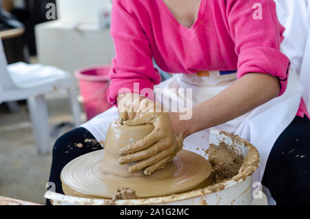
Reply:
[[262, 184], [280, 205], [302, 203], [310, 195], [309, 128], [307, 118], [295, 118], [269, 154]]

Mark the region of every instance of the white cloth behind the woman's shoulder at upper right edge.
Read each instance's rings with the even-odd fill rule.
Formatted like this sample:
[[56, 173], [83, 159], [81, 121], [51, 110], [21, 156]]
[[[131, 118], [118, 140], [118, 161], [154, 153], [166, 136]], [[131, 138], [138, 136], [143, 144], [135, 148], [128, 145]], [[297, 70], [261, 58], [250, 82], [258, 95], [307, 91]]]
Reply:
[[310, 86], [310, 0], [274, 0], [278, 19], [285, 26], [283, 52], [291, 60], [304, 87], [302, 97], [309, 103]]

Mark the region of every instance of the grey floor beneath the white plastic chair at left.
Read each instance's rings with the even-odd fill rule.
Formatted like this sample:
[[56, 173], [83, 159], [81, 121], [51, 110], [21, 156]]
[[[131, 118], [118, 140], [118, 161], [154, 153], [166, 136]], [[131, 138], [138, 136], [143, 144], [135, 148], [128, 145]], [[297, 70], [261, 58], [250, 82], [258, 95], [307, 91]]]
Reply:
[[[72, 122], [68, 99], [63, 93], [48, 94], [50, 127]], [[37, 154], [25, 103], [17, 113], [8, 112], [0, 105], [0, 196], [44, 203], [45, 184], [48, 182], [51, 155]], [[67, 132], [64, 127], [52, 138]]]

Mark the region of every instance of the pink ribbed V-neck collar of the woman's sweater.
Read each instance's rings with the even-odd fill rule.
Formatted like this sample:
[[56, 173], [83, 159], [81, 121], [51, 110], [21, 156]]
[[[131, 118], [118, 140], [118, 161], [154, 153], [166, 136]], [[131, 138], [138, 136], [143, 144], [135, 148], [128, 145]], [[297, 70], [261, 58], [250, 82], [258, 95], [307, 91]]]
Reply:
[[198, 27], [200, 21], [203, 19], [203, 14], [205, 13], [205, 8], [206, 8], [206, 4], [207, 4], [207, 0], [201, 0], [200, 1], [200, 6], [199, 6], [199, 10], [198, 10], [198, 16], [196, 21], [193, 23], [191, 28], [187, 28], [184, 25], [180, 24], [178, 22], [178, 20], [176, 19], [176, 17], [174, 17], [174, 14], [172, 14], [172, 12], [169, 10], [168, 6], [166, 5], [165, 1], [163, 0], [158, 0], [160, 3], [161, 8], [163, 9], [163, 11], [165, 11], [165, 13], [167, 14], [167, 17], [169, 17], [169, 19], [175, 23], [176, 26], [178, 26], [179, 28], [182, 28], [184, 30], [187, 31], [194, 31], [196, 30], [196, 28]]

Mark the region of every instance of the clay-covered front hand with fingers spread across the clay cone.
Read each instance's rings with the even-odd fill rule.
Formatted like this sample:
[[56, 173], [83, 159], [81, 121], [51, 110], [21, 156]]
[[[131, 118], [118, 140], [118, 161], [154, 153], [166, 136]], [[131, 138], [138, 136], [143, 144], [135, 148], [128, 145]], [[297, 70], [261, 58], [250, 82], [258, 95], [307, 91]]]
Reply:
[[[123, 125], [154, 125], [153, 131], [140, 140], [121, 149], [118, 163], [134, 163], [129, 171], [134, 173], [145, 168], [144, 174], [150, 175], [157, 169], [162, 169], [183, 148], [183, 136], [176, 137], [167, 112], [154, 112], [151, 108], [141, 108], [130, 121]], [[125, 115], [125, 113], [124, 113]], [[124, 119], [125, 120], [125, 119]]]

